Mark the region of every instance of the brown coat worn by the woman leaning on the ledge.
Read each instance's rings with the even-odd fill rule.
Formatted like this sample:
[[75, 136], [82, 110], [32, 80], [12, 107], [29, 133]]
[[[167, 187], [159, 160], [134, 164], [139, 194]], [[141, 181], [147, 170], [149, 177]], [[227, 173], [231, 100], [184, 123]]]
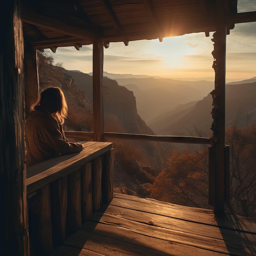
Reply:
[[61, 154], [80, 152], [83, 145], [71, 143], [63, 127], [47, 110], [38, 106], [26, 121], [27, 166], [32, 166]]

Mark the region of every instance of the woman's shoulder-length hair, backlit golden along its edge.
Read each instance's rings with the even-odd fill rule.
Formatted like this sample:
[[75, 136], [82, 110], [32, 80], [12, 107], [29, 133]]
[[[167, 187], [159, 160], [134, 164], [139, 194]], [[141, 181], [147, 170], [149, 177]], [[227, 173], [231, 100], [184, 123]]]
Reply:
[[64, 118], [67, 117], [67, 103], [60, 88], [49, 87], [43, 90], [38, 100], [31, 106], [31, 110], [39, 105], [46, 108], [61, 124], [64, 123]]

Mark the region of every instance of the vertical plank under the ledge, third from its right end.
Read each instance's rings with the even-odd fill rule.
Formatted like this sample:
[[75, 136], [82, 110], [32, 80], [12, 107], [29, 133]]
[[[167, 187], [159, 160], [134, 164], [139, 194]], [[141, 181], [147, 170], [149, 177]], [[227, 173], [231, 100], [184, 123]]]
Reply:
[[82, 223], [92, 216], [92, 163], [81, 168]]

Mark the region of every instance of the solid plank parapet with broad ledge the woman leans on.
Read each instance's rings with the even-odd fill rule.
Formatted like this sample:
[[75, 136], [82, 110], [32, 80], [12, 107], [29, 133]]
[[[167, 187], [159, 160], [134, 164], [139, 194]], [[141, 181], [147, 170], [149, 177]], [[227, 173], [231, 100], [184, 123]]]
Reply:
[[31, 255], [49, 255], [113, 198], [113, 149], [85, 142], [79, 153], [27, 168]]

